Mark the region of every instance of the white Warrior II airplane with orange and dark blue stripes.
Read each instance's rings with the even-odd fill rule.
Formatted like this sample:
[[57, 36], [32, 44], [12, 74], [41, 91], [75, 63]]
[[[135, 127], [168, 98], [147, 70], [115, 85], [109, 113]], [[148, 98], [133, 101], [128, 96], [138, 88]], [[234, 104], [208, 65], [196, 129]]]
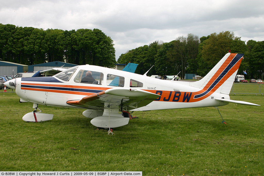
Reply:
[[[218, 64], [197, 82], [160, 80], [146, 75], [94, 65], [80, 65], [51, 77], [16, 78], [4, 83], [16, 89], [21, 102], [32, 102], [33, 112], [24, 121], [51, 120], [52, 114], [37, 112], [38, 104], [83, 108], [96, 127], [115, 128], [127, 125], [128, 111], [177, 108], [218, 107], [229, 102], [229, 92], [243, 54], [227, 53]], [[119, 112], [123, 112], [121, 115]]]

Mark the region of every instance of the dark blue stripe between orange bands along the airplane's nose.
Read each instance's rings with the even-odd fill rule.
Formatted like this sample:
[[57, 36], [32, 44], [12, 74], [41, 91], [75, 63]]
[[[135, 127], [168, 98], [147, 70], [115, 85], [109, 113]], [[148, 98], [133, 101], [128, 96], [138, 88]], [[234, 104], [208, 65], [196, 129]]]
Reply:
[[88, 93], [102, 92], [101, 90], [93, 90], [93, 89], [78, 89], [78, 88], [67, 88], [67, 87], [37, 86], [37, 85], [21, 85], [21, 87], [36, 88], [36, 89], [51, 89], [51, 90], [59, 90], [59, 91], [88, 92]]

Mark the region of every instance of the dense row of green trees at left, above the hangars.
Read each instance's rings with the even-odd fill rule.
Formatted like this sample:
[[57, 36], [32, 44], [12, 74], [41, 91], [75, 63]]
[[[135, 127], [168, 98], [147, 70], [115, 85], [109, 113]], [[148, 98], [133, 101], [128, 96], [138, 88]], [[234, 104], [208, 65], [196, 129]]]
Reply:
[[33, 65], [62, 61], [114, 67], [113, 40], [99, 29], [38, 29], [0, 23], [0, 60]]

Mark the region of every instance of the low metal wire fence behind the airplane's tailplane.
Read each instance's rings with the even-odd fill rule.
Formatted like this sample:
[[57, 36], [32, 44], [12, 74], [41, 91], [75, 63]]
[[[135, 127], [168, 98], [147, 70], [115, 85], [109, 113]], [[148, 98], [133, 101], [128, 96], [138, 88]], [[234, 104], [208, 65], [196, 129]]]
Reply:
[[229, 94], [261, 94], [264, 93], [264, 84], [234, 83]]

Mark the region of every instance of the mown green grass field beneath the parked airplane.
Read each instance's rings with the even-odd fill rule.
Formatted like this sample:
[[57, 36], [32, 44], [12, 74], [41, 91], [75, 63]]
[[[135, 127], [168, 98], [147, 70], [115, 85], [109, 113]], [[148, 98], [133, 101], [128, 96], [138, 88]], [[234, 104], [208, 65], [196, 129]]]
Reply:
[[259, 107], [134, 112], [139, 118], [97, 130], [83, 110], [39, 106], [51, 121], [28, 123], [32, 103], [0, 92], [0, 171], [142, 171], [143, 175], [263, 175], [264, 97], [231, 99]]

